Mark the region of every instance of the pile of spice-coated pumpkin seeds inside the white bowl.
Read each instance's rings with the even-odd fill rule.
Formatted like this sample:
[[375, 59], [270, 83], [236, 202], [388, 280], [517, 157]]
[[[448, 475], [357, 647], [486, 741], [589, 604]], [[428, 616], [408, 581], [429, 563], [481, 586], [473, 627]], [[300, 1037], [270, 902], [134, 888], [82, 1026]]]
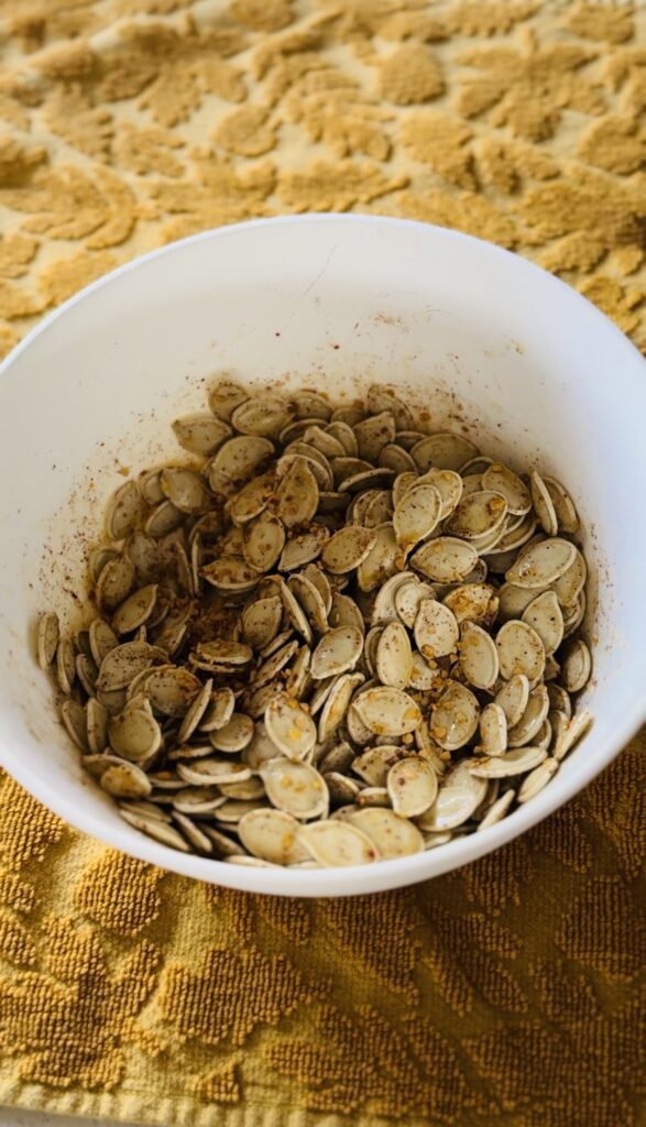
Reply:
[[586, 565], [556, 479], [416, 429], [387, 387], [221, 380], [192, 455], [127, 480], [96, 616], [38, 625], [87, 770], [144, 834], [234, 864], [362, 864], [480, 832], [585, 733]]

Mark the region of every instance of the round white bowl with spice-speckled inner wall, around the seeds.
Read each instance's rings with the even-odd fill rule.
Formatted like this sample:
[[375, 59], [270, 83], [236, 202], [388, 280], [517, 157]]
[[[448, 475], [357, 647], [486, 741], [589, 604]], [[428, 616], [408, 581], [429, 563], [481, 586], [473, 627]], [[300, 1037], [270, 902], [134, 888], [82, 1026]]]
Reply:
[[[351, 869], [242, 868], [127, 826], [83, 772], [34, 659], [50, 606], [79, 624], [83, 541], [120, 467], [177, 456], [169, 421], [228, 369], [333, 397], [400, 383], [433, 425], [536, 461], [575, 496], [593, 561], [590, 735], [502, 823]], [[0, 762], [79, 829], [177, 872], [256, 893], [330, 896], [437, 876], [497, 849], [586, 786], [646, 717], [646, 373], [593, 305], [486, 242], [405, 220], [312, 215], [209, 231], [115, 270], [46, 318], [0, 380]], [[596, 597], [594, 593], [596, 592]]]

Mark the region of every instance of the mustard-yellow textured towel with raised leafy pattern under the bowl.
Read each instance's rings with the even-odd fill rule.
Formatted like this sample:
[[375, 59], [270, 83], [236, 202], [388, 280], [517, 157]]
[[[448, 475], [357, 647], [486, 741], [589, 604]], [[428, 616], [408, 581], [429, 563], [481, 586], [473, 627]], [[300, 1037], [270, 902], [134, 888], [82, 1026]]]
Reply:
[[[135, 254], [308, 210], [489, 238], [644, 344], [644, 12], [0, 0], [0, 344]], [[191, 1127], [639, 1127], [645, 752], [468, 869], [320, 903], [151, 870], [3, 777], [0, 1101]]]

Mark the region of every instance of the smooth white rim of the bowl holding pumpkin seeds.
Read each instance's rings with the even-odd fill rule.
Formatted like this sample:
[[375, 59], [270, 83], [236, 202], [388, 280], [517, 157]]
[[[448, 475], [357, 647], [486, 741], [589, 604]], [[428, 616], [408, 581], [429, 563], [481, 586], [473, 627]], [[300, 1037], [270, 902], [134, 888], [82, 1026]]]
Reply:
[[[424, 223], [418, 220], [378, 214], [320, 212], [306, 215], [274, 215], [212, 228], [183, 239], [177, 239], [162, 247], [157, 247], [147, 254], [139, 255], [136, 258], [117, 266], [109, 273], [90, 282], [38, 321], [6, 356], [2, 363], [0, 363], [0, 379], [41, 335], [46, 334], [50, 327], [64, 317], [71, 309], [90, 299], [97, 291], [118, 283], [120, 278], [131, 270], [136, 270], [157, 258], [171, 256], [178, 250], [195, 243], [218, 241], [228, 237], [234, 238], [239, 232], [253, 231], [257, 228], [281, 225], [331, 227], [338, 223], [374, 225], [378, 228], [412, 228], [423, 231], [425, 237], [431, 236], [440, 240], [468, 245], [479, 255], [497, 257], [505, 261], [513, 270], [516, 270], [519, 276], [526, 275], [530, 278], [538, 279], [543, 285], [552, 286], [555, 290], [559, 289], [564, 298], [578, 304], [581, 311], [586, 313], [587, 317], [592, 317], [603, 328], [603, 331], [607, 334], [610, 331], [614, 337], [617, 347], [623, 350], [627, 356], [630, 356], [632, 361], [636, 357], [641, 358], [638, 349], [610, 318], [584, 298], [583, 294], [567, 285], [561, 278], [504, 247], [471, 234], [466, 234], [462, 231]], [[641, 656], [640, 671], [643, 675], [646, 674], [646, 647]], [[636, 677], [637, 680], [638, 677]], [[594, 763], [583, 761], [577, 773], [565, 781], [559, 780], [559, 784], [554, 788], [552, 786], [546, 787], [531, 802], [516, 808], [508, 817], [494, 826], [489, 826], [481, 833], [468, 834], [464, 837], [450, 841], [436, 850], [427, 850], [412, 857], [380, 861], [374, 866], [352, 866], [347, 868], [304, 871], [285, 869], [278, 866], [266, 869], [251, 866], [234, 866], [209, 858], [201, 858], [197, 854], [179, 853], [176, 850], [154, 842], [152, 838], [147, 838], [143, 834], [138, 833], [131, 836], [132, 831], [126, 832], [125, 827], [123, 831], [121, 827], [112, 829], [101, 827], [103, 832], [97, 835], [96, 823], [89, 814], [85, 814], [82, 805], [74, 804], [71, 798], [67, 797], [64, 790], [60, 793], [57, 792], [52, 798], [47, 792], [46, 786], [41, 784], [38, 777], [34, 775], [23, 764], [19, 753], [8, 747], [2, 737], [0, 737], [0, 763], [27, 791], [76, 829], [90, 837], [98, 837], [104, 844], [116, 848], [158, 868], [206, 882], [220, 884], [225, 887], [239, 888], [251, 893], [306, 897], [347, 896], [399, 888], [421, 880], [432, 879], [433, 877], [469, 864], [486, 853], [507, 844], [507, 842], [513, 841], [514, 837], [517, 837], [548, 817], [560, 806], [564, 806], [565, 802], [569, 801], [576, 793], [589, 786], [612, 762], [644, 721], [646, 721], [646, 699], [636, 694], [631, 707], [626, 709], [622, 722], [616, 726], [612, 740], [609, 742], [608, 748], [600, 760]]]

